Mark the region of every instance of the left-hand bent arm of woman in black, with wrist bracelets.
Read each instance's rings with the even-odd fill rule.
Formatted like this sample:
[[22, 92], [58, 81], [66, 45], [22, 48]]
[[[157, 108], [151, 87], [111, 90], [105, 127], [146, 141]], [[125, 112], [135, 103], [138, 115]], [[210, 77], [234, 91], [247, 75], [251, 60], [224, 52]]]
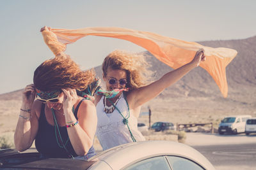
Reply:
[[40, 106], [38, 106], [39, 103], [34, 103], [34, 99], [34, 85], [27, 85], [24, 92], [22, 92], [22, 105], [20, 107], [19, 120], [14, 134], [15, 148], [19, 151], [30, 148], [38, 131], [36, 108]]

